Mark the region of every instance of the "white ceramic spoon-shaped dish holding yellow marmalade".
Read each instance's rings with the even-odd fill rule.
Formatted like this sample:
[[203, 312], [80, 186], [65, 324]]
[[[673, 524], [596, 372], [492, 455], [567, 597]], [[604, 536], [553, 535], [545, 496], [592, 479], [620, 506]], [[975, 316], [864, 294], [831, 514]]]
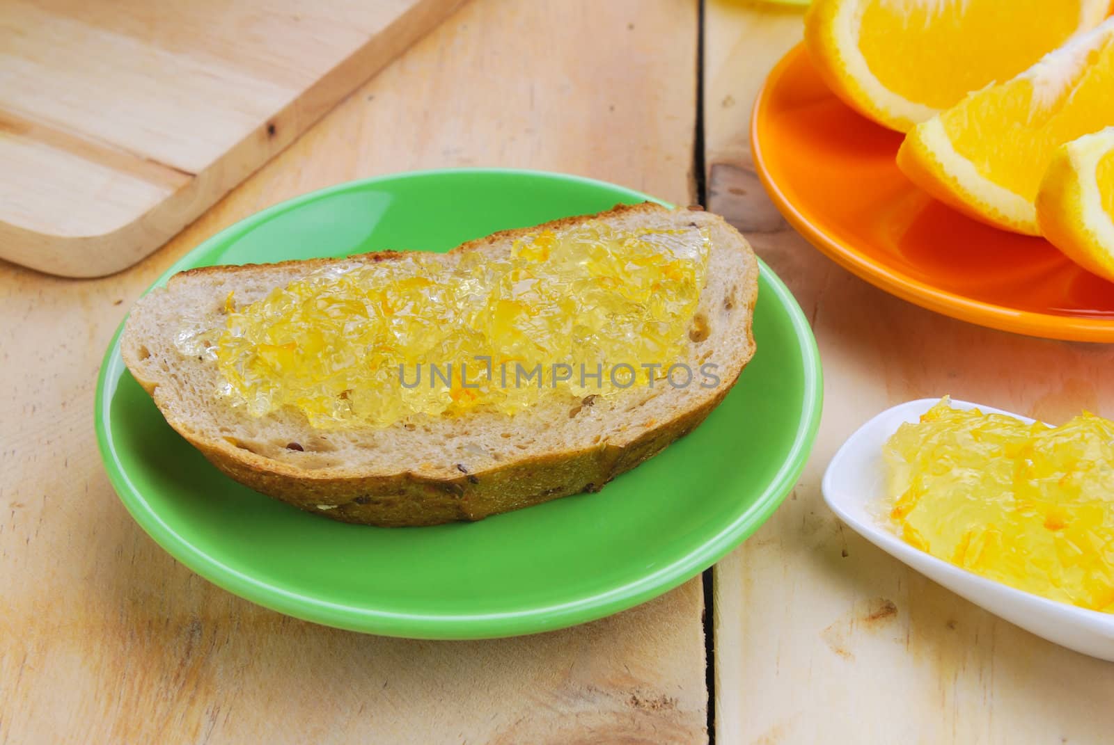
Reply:
[[[887, 409], [859, 428], [824, 472], [821, 489], [828, 507], [871, 543], [952, 592], [1049, 641], [1114, 661], [1114, 615], [1048, 600], [979, 577], [909, 546], [882, 525], [880, 513], [885, 510], [880, 504], [887, 497], [882, 445], [902, 422], [920, 421], [920, 415], [938, 402], [939, 399], [909, 401]], [[1026, 416], [966, 401], [952, 401], [951, 405], [1033, 422]]]

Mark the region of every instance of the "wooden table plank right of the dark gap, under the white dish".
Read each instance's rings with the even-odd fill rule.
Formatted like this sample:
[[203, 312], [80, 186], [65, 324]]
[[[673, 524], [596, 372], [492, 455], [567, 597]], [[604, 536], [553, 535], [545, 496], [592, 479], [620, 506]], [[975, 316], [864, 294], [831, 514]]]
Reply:
[[747, 145], [754, 94], [800, 39], [800, 14], [709, 0], [705, 20], [709, 208], [729, 215], [785, 280], [824, 362], [823, 421], [804, 476], [715, 570], [716, 739], [1108, 739], [1114, 666], [1038, 639], [907, 569], [840, 525], [820, 479], [854, 429], [910, 399], [951, 393], [1053, 422], [1081, 409], [1114, 415], [1114, 349], [930, 313], [809, 246], [766, 198]]

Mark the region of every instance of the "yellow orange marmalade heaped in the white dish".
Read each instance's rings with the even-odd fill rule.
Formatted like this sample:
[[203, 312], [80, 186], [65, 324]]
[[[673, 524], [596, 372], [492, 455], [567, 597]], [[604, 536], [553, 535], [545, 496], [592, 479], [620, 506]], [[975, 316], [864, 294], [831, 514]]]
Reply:
[[1062, 427], [947, 399], [886, 444], [890, 518], [912, 546], [1046, 598], [1114, 612], [1114, 422]]

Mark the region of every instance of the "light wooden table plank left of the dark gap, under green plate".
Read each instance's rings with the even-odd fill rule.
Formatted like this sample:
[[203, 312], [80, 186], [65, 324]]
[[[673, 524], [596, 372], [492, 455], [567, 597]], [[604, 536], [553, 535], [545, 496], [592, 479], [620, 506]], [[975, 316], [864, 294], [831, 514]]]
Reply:
[[175, 563], [96, 452], [127, 307], [216, 231], [340, 180], [502, 165], [686, 203], [696, 7], [475, 0], [165, 248], [74, 282], [0, 263], [0, 742], [589, 743], [706, 738], [694, 580], [583, 627], [430, 643], [253, 606]]

